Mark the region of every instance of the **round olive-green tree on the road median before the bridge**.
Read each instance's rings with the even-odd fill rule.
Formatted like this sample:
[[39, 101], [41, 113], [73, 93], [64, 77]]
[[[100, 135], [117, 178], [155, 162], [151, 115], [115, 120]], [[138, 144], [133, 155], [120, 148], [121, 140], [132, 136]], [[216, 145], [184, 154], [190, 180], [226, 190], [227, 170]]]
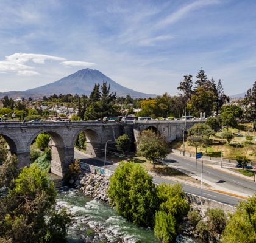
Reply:
[[152, 160], [153, 168], [157, 160], [164, 159], [169, 153], [169, 143], [165, 137], [152, 130], [144, 130], [138, 135], [137, 146], [138, 153]]

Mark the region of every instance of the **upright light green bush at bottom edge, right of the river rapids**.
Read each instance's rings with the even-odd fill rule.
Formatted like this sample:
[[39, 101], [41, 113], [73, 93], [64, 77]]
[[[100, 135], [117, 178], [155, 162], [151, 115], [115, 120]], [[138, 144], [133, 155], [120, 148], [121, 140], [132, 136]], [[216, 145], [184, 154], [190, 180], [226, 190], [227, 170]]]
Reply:
[[163, 243], [169, 243], [176, 237], [176, 220], [165, 211], [157, 211], [155, 214], [155, 236]]

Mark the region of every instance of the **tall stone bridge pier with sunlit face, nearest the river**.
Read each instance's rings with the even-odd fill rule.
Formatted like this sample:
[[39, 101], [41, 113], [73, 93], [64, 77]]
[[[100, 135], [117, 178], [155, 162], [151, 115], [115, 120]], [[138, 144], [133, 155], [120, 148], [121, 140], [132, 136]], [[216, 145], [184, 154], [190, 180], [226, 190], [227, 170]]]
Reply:
[[74, 147], [66, 148], [52, 144], [51, 148], [51, 173], [63, 177], [68, 171], [68, 166], [74, 160]]

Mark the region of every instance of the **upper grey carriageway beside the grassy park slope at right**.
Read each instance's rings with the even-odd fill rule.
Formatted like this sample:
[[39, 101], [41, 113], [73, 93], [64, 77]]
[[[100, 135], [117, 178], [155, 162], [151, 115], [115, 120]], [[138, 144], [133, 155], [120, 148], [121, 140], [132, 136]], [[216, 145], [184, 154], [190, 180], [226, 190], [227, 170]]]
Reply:
[[[201, 162], [197, 162], [197, 169], [195, 159], [188, 159], [186, 157], [169, 154], [167, 160], [169, 165], [174, 165], [177, 168], [184, 169], [189, 173], [195, 174], [197, 171], [198, 178], [201, 178]], [[203, 177], [216, 185], [227, 188], [232, 191], [252, 195], [256, 193], [256, 183], [250, 180], [243, 179], [226, 172], [219, 171], [218, 169], [210, 168], [204, 165]]]

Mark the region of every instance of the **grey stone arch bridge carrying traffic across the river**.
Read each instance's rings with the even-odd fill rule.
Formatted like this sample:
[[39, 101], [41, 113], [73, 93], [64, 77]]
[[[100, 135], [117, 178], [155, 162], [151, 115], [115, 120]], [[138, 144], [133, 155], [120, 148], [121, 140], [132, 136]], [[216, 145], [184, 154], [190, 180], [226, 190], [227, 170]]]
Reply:
[[[188, 121], [187, 129], [194, 123], [201, 121]], [[51, 137], [52, 162], [51, 171], [63, 176], [69, 163], [74, 160], [74, 142], [77, 135], [84, 131], [87, 137], [87, 153], [92, 156], [104, 154], [105, 143], [112, 140], [108, 146], [115, 146], [119, 135], [127, 134], [132, 142], [137, 139], [138, 133], [144, 129], [154, 129], [165, 135], [171, 142], [182, 139], [185, 122], [177, 121], [85, 121], [65, 123], [0, 123], [0, 135], [9, 145], [10, 152], [16, 154], [18, 167], [29, 165], [30, 145], [41, 133], [48, 133]]]

